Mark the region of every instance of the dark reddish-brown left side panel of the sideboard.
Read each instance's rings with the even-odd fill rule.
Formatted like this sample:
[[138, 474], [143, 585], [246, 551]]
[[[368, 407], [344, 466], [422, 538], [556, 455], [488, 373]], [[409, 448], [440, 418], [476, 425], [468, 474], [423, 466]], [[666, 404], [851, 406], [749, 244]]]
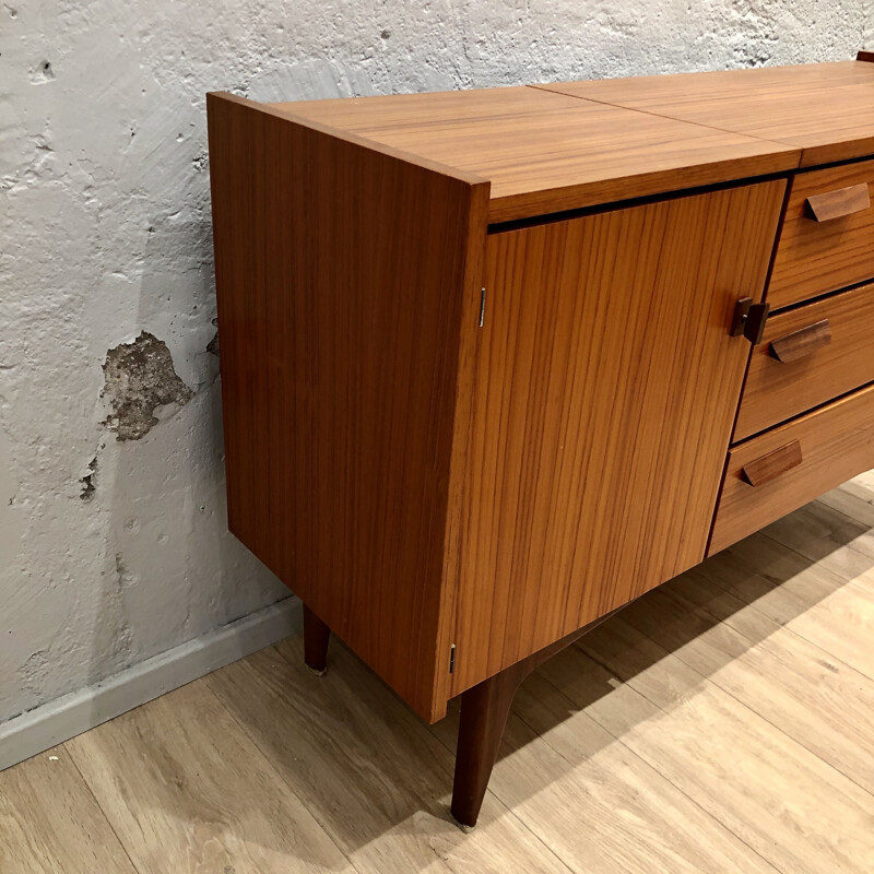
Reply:
[[229, 96], [209, 122], [231, 529], [434, 719], [488, 186]]

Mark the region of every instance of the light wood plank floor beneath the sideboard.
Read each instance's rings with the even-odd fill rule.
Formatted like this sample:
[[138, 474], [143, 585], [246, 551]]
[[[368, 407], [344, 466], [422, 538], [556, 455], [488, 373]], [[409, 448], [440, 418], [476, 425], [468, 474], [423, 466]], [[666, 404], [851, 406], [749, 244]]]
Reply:
[[0, 773], [0, 872], [874, 871], [874, 472], [521, 688], [480, 825], [421, 722], [291, 639]]

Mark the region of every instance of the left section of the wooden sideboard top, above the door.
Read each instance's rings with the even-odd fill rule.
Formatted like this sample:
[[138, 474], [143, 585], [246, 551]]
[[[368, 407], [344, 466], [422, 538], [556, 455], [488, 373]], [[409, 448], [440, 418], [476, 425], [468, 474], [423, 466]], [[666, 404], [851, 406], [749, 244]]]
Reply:
[[801, 155], [534, 87], [273, 106], [489, 179], [489, 222], [767, 175]]

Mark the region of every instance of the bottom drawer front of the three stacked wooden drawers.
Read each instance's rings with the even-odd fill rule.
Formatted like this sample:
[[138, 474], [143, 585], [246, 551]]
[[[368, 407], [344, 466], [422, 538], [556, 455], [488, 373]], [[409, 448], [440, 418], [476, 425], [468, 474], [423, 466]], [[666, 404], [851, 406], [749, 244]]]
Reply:
[[708, 555], [874, 466], [874, 386], [729, 452]]

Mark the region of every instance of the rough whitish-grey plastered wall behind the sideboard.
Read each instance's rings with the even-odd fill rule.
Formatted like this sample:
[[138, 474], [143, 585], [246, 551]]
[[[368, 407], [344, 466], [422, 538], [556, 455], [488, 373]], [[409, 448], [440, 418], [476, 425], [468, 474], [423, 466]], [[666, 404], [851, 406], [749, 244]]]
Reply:
[[848, 59], [866, 7], [0, 4], [0, 721], [286, 594], [225, 532], [205, 91]]

